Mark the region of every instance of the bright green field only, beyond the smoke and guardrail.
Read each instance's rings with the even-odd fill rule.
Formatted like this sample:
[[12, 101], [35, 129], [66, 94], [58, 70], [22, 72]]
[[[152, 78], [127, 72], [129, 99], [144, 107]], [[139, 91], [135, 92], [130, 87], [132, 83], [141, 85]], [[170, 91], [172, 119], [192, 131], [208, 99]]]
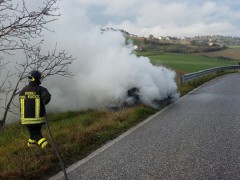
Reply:
[[237, 61], [220, 60], [199, 54], [159, 53], [156, 51], [141, 52], [138, 55], [148, 56], [155, 65], [163, 65], [177, 71], [196, 72], [219, 66], [237, 65]]

